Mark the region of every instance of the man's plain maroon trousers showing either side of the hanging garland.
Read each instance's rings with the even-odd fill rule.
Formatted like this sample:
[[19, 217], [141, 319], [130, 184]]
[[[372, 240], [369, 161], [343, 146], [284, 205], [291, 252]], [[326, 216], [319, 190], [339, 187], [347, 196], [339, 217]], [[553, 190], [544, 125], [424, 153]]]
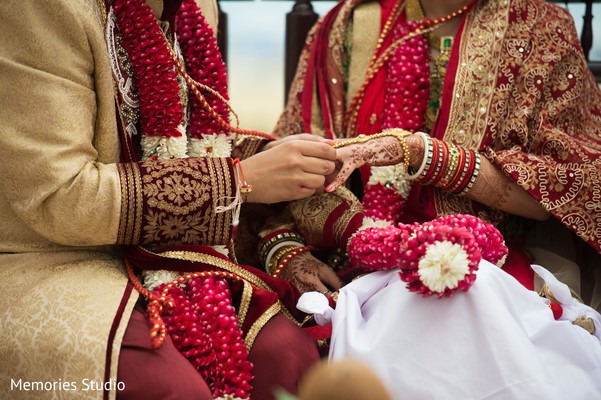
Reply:
[[[150, 348], [150, 322], [135, 308], [125, 330], [117, 381], [125, 384], [117, 399], [212, 399], [211, 391], [167, 338]], [[249, 355], [253, 363], [252, 400], [272, 400], [282, 388], [296, 393], [301, 375], [319, 360], [314, 340], [286, 317], [273, 317], [261, 330]]]

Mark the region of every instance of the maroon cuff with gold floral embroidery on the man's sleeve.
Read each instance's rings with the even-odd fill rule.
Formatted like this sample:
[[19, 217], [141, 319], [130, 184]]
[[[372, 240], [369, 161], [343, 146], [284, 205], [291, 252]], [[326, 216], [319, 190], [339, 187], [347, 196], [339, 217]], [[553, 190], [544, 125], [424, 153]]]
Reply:
[[119, 244], [225, 245], [235, 197], [231, 159], [188, 158], [119, 165]]

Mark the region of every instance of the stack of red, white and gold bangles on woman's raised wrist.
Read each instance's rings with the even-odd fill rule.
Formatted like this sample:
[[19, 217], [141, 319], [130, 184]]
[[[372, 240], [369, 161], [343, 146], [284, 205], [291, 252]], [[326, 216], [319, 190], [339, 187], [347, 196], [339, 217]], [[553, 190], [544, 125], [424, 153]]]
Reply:
[[480, 154], [433, 139], [422, 132], [416, 135], [424, 141], [424, 159], [420, 168], [409, 175], [409, 179], [458, 195], [468, 193], [480, 172]]

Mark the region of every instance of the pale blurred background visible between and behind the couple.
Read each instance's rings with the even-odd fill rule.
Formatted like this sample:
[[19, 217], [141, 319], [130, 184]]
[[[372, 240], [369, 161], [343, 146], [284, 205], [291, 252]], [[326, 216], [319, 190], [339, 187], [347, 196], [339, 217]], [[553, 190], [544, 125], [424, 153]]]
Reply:
[[[313, 1], [323, 16], [336, 2]], [[560, 5], [562, 3], [559, 3]], [[284, 37], [293, 1], [220, 1], [227, 14], [230, 99], [243, 128], [271, 132], [284, 108]], [[563, 4], [582, 29], [584, 4]], [[601, 60], [601, 3], [593, 5], [590, 60]]]

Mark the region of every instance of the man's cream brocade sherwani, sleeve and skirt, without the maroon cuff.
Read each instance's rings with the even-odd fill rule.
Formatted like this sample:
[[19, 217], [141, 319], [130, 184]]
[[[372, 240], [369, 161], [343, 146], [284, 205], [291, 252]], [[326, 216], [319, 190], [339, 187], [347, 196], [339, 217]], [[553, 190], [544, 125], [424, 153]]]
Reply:
[[[203, 11], [214, 24], [215, 4]], [[0, 397], [101, 398], [82, 381], [102, 383], [105, 367], [116, 378], [137, 295], [117, 246], [136, 243], [119, 241], [129, 222], [98, 4], [0, 2], [0, 96]]]

